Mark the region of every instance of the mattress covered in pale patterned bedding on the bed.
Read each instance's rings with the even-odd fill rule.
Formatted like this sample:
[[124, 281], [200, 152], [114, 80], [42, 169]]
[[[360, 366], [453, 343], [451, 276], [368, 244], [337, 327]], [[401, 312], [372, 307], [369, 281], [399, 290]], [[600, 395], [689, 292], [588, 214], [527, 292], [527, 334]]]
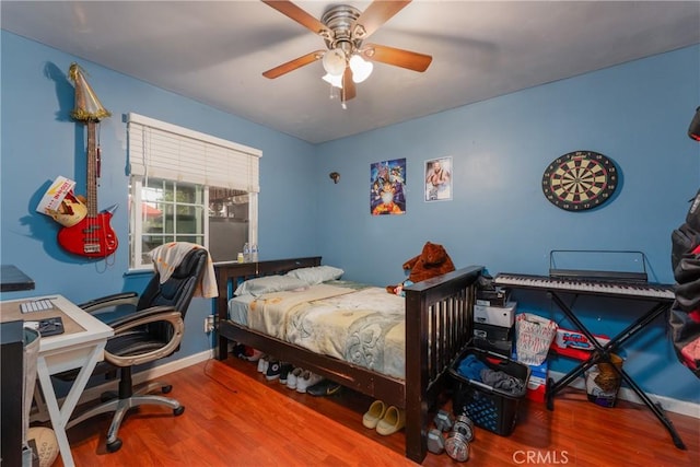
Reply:
[[328, 281], [229, 301], [234, 323], [404, 380], [405, 299], [383, 288]]

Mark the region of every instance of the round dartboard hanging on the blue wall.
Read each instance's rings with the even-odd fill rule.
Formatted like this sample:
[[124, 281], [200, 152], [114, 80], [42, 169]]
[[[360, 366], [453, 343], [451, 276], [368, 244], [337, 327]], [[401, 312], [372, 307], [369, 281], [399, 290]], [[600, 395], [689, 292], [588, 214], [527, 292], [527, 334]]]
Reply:
[[567, 211], [596, 208], [617, 188], [615, 162], [593, 151], [574, 151], [555, 159], [542, 175], [547, 199]]

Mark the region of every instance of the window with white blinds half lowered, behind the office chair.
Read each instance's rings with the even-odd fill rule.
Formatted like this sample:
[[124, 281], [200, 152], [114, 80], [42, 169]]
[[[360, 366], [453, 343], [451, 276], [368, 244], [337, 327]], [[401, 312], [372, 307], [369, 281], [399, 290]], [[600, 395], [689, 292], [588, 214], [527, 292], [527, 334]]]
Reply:
[[137, 114], [128, 136], [132, 269], [167, 242], [202, 245], [214, 261], [257, 243], [260, 151]]

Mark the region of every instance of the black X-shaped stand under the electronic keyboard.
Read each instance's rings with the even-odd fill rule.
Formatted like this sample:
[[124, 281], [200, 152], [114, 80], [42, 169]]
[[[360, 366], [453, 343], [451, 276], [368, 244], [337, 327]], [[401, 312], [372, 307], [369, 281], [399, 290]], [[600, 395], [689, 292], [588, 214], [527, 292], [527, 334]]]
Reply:
[[[570, 292], [570, 293], [575, 293], [575, 292]], [[567, 306], [567, 304], [559, 297], [557, 292], [553, 292], [552, 290], [547, 290], [547, 295], [557, 303], [557, 305], [561, 308], [561, 311], [567, 315], [567, 317], [571, 319], [574, 323], [574, 325], [578, 327], [578, 329], [586, 336], [586, 338], [588, 339], [588, 342], [593, 343], [593, 346], [595, 347], [595, 350], [592, 352], [588, 360], [582, 362], [575, 369], [571, 370], [561, 380], [557, 381], [556, 383], [553, 382], [552, 378], [547, 380], [545, 398], [547, 401], [547, 409], [549, 410], [555, 410], [553, 398], [559, 390], [567, 387], [576, 377], [582, 375], [583, 372], [588, 370], [591, 366], [597, 364], [598, 362], [610, 363], [610, 353], [612, 353], [615, 350], [620, 348], [629, 338], [631, 338], [637, 332], [639, 332], [644, 327], [646, 327], [649, 324], [651, 324], [654, 319], [656, 319], [656, 317], [666, 313], [670, 308], [670, 305], [673, 303], [673, 302], [658, 302], [656, 305], [650, 308], [645, 314], [643, 314], [638, 319], [635, 319], [634, 323], [629, 325], [623, 331], [615, 336], [609, 342], [607, 342], [605, 346], [600, 346], [597, 339], [593, 336], [593, 334], [588, 329], [586, 329], [586, 327], [583, 325], [583, 323], [581, 323], [581, 320], [576, 317], [573, 311], [569, 306]], [[674, 428], [670, 420], [668, 420], [668, 418], [664, 413], [661, 405], [658, 402], [652, 401], [649, 398], [649, 396], [642, 390], [642, 388], [640, 388], [637, 385], [637, 383], [634, 383], [634, 381], [630, 377], [630, 375], [623, 369], [621, 367], [618, 369], [614, 364], [611, 364], [610, 366], [616, 372], [619, 373], [622, 380], [625, 380], [625, 382], [632, 388], [632, 390], [639, 396], [639, 398], [642, 399], [642, 401], [646, 405], [646, 407], [649, 407], [651, 411], [656, 416], [656, 418], [664, 424], [664, 427], [666, 427], [666, 430], [668, 430], [668, 433], [670, 433], [670, 437], [673, 439], [676, 447], [678, 447], [679, 450], [686, 450], [686, 445], [684, 444], [682, 440], [678, 435], [678, 432], [676, 432], [676, 429]]]

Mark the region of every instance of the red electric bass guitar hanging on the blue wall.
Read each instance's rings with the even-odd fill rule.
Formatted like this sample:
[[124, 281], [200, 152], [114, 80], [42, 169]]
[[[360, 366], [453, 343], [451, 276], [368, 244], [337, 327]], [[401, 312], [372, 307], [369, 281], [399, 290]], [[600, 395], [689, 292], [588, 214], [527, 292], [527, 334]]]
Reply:
[[100, 153], [95, 144], [95, 126], [94, 120], [88, 120], [88, 215], [75, 225], [58, 231], [58, 244], [75, 255], [104, 258], [117, 249], [119, 242], [109, 225], [116, 206], [97, 212]]

